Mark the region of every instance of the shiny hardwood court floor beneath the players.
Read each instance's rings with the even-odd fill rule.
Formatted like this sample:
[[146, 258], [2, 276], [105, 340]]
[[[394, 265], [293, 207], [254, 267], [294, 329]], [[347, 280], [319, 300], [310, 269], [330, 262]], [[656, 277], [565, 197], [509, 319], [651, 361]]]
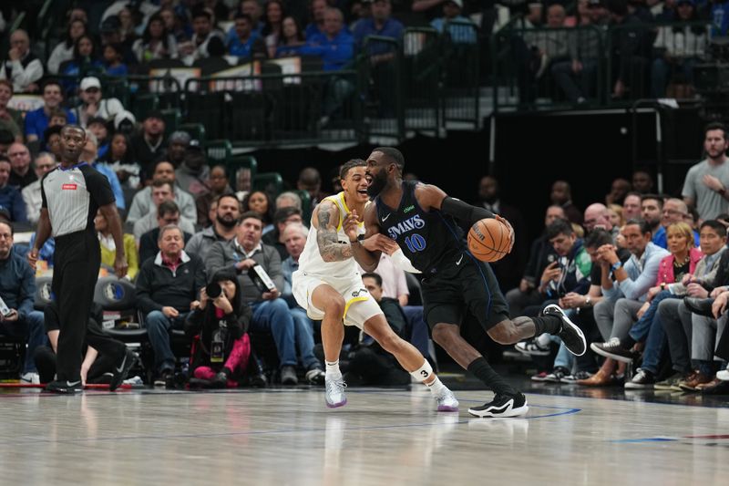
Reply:
[[729, 483], [725, 404], [530, 391], [526, 419], [477, 419], [467, 408], [490, 392], [459, 391], [461, 411], [438, 414], [413, 388], [349, 389], [334, 410], [321, 388], [3, 393], [2, 483]]

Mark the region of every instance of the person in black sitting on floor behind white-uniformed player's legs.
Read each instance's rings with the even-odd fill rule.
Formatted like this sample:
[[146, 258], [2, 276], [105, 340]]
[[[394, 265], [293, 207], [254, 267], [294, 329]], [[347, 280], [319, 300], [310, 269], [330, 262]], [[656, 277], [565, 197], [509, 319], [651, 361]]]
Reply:
[[[397, 336], [406, 337], [406, 316], [397, 300], [382, 293], [378, 274], [362, 274], [364, 288], [373, 296], [385, 314], [387, 324]], [[370, 386], [407, 385], [409, 373], [370, 336], [362, 335], [358, 346], [349, 353], [346, 378], [349, 382]]]

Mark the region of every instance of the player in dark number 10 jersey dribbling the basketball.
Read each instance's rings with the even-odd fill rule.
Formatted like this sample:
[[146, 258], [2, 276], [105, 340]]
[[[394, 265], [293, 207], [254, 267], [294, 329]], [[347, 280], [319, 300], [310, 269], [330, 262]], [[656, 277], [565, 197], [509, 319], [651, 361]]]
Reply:
[[468, 252], [454, 218], [468, 225], [484, 218], [506, 220], [448, 197], [436, 186], [403, 181], [404, 168], [405, 160], [399, 150], [383, 147], [369, 156], [366, 175], [371, 182], [367, 191], [375, 200], [364, 209], [364, 242], [371, 244], [356, 239], [359, 212], [353, 210], [344, 221], [344, 232], [353, 241], [354, 258], [365, 271], [372, 272], [380, 261], [380, 250], [373, 251], [372, 243], [380, 247], [385, 246], [383, 240], [387, 239], [398, 243], [422, 273], [424, 313], [433, 339], [458, 365], [495, 392], [493, 401], [469, 408], [468, 412], [477, 417], [524, 415], [529, 410], [524, 395], [499, 377], [460, 336], [463, 315], [475, 315], [488, 336], [503, 345], [548, 332], [560, 336], [570, 352], [580, 356], [586, 349], [585, 337], [557, 305], [545, 308], [542, 317], [510, 320], [496, 277], [488, 264]]

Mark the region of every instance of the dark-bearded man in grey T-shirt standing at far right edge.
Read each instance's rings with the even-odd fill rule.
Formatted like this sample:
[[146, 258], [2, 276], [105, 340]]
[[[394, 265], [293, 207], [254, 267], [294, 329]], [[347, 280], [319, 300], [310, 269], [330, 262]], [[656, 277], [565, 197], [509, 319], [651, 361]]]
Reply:
[[715, 218], [729, 210], [729, 149], [726, 127], [710, 123], [703, 129], [703, 151], [706, 159], [693, 165], [686, 173], [681, 195], [683, 201], [696, 206], [704, 220]]

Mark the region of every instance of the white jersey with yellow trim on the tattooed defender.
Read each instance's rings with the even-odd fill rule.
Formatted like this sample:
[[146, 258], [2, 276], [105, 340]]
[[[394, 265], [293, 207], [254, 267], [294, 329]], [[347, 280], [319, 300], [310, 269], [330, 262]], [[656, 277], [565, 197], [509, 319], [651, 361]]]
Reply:
[[[346, 202], [344, 202], [344, 192], [340, 192], [334, 196], [324, 198], [323, 201], [331, 201], [339, 208], [339, 222], [336, 227], [337, 237], [340, 243], [349, 244], [349, 237], [344, 233], [343, 222], [350, 213]], [[370, 204], [370, 202], [367, 202]], [[306, 244], [303, 246], [303, 252], [299, 256], [299, 272], [304, 274], [321, 277], [323, 280], [347, 280], [352, 277], [359, 278], [359, 268], [357, 267], [354, 257], [347, 258], [342, 262], [324, 262], [322, 254], [319, 253], [319, 243], [316, 243], [317, 230], [312, 224], [309, 229], [309, 236], [306, 238]], [[359, 224], [358, 234], [364, 234], [364, 222]]]

